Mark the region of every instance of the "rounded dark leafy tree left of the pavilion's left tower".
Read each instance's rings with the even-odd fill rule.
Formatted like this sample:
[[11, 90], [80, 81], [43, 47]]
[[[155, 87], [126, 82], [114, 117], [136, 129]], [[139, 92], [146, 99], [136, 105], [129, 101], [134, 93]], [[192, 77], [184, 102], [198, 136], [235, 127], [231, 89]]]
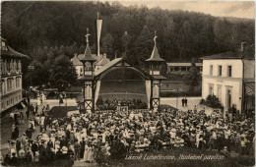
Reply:
[[49, 75], [50, 83], [57, 87], [66, 87], [77, 80], [77, 73], [69, 58], [60, 55], [55, 58]]

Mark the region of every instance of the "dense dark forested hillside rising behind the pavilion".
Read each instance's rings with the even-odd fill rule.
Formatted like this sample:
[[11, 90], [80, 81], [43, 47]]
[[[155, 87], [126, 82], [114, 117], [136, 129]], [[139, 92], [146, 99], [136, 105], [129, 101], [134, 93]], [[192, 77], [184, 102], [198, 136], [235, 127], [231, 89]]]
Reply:
[[[161, 57], [172, 62], [189, 62], [193, 57], [237, 49], [241, 41], [250, 44], [255, 41], [255, 22], [247, 19], [102, 2], [6, 1], [1, 5], [2, 37], [12, 48], [28, 54], [32, 60], [36, 57], [41, 64], [47, 59], [42, 53], [44, 46], [53, 47], [48, 50], [54, 57], [67, 55], [67, 49], [59, 52], [63, 50], [61, 45], [85, 44], [87, 28], [91, 33], [90, 45], [93, 45], [96, 41], [96, 11], [103, 20], [101, 34], [109, 33], [113, 38], [111, 56], [117, 50], [124, 52], [122, 35], [125, 30], [129, 32], [131, 40], [126, 55], [133, 65], [143, 64], [150, 57], [154, 30], [159, 36], [157, 44]], [[107, 44], [104, 46], [106, 50], [110, 48]], [[39, 52], [35, 53], [38, 47]], [[76, 44], [72, 45], [72, 56], [70, 53], [68, 56], [74, 56], [76, 47]], [[78, 54], [84, 53], [85, 48], [78, 49]], [[91, 49], [96, 53], [94, 47]]]

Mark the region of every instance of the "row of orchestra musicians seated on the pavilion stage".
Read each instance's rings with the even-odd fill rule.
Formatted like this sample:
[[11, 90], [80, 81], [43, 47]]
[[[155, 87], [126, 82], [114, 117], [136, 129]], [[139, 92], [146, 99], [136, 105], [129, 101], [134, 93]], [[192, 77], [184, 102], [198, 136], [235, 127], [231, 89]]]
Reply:
[[103, 100], [100, 96], [97, 99], [96, 106], [99, 110], [116, 110], [116, 107], [120, 106], [128, 106], [129, 109], [147, 109], [148, 105], [146, 102], [141, 99], [122, 99], [117, 100], [116, 98], [113, 100], [106, 99]]

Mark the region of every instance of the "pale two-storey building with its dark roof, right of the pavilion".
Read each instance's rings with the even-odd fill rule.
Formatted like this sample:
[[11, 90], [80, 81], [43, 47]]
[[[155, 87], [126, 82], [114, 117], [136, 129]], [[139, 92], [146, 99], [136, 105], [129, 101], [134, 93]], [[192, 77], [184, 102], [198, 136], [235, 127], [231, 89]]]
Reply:
[[234, 106], [239, 112], [254, 109], [254, 46], [203, 57], [202, 96], [216, 95], [224, 111]]

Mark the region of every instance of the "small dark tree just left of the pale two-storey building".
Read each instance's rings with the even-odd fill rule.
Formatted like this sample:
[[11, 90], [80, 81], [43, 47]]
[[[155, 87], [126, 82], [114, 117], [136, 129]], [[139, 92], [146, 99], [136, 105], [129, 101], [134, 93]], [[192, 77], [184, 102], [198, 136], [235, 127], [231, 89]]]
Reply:
[[199, 85], [200, 74], [195, 64], [195, 59], [192, 59], [192, 67], [188, 73], [183, 77], [184, 83], [189, 85], [189, 90], [193, 91], [194, 87]]

